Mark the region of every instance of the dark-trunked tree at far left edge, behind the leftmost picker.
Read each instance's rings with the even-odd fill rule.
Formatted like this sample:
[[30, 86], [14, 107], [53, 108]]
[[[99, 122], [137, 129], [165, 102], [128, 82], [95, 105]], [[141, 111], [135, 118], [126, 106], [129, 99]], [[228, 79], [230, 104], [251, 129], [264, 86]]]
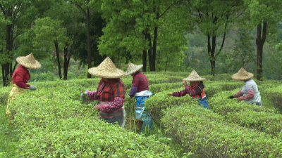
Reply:
[[[5, 0], [0, 2], [1, 17], [6, 25], [1, 40], [5, 40], [5, 47], [1, 47], [1, 69], [4, 86], [8, 86], [8, 77], [13, 74], [12, 61], [17, 56], [15, 50], [20, 44], [16, 44], [18, 37], [29, 29], [37, 17], [48, 9], [48, 0]], [[3, 27], [2, 27], [3, 28]], [[3, 46], [3, 45], [2, 45]], [[35, 55], [35, 58], [37, 55]]]

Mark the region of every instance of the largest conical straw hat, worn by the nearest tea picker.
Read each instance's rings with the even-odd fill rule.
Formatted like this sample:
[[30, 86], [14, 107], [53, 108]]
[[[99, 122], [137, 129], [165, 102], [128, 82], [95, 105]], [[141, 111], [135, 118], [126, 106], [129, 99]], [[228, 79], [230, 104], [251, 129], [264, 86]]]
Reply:
[[94, 76], [107, 79], [117, 79], [125, 75], [123, 70], [116, 68], [114, 62], [112, 62], [109, 57], [101, 62], [99, 66], [88, 69], [88, 72]]

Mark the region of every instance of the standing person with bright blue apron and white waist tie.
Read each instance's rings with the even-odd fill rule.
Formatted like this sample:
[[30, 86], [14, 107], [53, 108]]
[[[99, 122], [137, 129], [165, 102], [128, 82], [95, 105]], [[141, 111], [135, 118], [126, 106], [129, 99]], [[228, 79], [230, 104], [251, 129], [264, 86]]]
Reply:
[[133, 77], [133, 86], [131, 86], [129, 96], [130, 98], [135, 97], [135, 117], [136, 119], [142, 119], [143, 124], [141, 132], [145, 132], [146, 129], [154, 129], [154, 124], [152, 117], [147, 112], [145, 101], [147, 98], [152, 96], [152, 92], [149, 91], [149, 81], [145, 74], [140, 72], [143, 65], [134, 65], [133, 63], [128, 63], [128, 70], [125, 72], [125, 76], [131, 75]]

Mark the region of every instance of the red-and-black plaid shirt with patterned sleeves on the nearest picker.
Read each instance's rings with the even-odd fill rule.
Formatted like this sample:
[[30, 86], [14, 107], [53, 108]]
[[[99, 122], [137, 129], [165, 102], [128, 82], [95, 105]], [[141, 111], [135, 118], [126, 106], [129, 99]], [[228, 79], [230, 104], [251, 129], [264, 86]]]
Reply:
[[101, 79], [97, 91], [87, 91], [90, 100], [106, 102], [100, 104], [100, 116], [102, 119], [117, 117], [123, 114], [125, 85], [121, 79], [110, 79], [109, 82]]

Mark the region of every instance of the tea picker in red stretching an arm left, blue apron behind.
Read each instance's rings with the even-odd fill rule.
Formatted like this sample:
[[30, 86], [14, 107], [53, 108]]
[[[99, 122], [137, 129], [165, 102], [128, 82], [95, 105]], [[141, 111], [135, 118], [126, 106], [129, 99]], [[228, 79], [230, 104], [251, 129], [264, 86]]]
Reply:
[[[168, 96], [182, 97], [188, 94], [192, 98], [197, 99], [200, 106], [209, 109], [207, 97], [204, 94], [204, 80], [205, 78], [200, 77], [195, 70], [192, 70], [189, 76], [186, 79], [183, 79], [185, 90], [168, 93]], [[187, 85], [186, 81], [190, 82], [190, 86]]]

